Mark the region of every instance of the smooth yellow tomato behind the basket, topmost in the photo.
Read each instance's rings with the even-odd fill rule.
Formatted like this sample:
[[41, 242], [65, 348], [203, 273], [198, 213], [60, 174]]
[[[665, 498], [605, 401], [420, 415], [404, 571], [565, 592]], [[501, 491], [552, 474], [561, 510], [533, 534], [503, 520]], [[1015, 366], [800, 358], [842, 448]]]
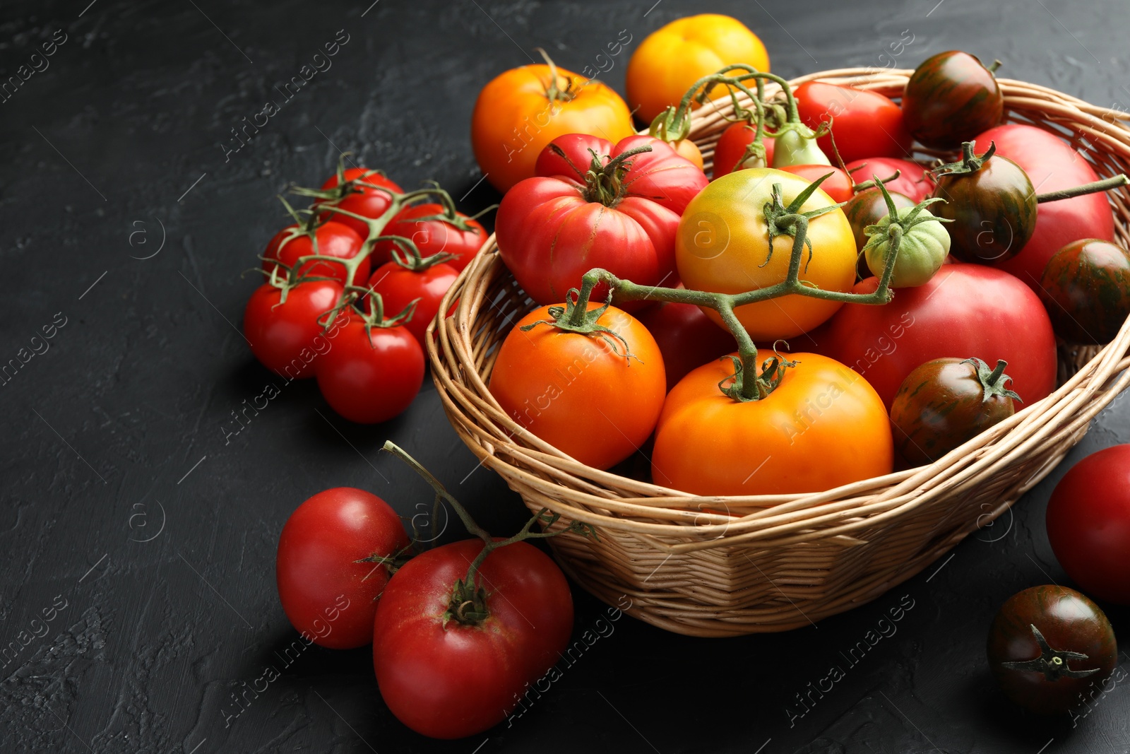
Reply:
[[[628, 60], [628, 103], [650, 123], [679, 104], [695, 81], [733, 63], [768, 71], [770, 55], [757, 35], [729, 16], [702, 14], [673, 20], [647, 35]], [[715, 86], [710, 98], [721, 97]]]

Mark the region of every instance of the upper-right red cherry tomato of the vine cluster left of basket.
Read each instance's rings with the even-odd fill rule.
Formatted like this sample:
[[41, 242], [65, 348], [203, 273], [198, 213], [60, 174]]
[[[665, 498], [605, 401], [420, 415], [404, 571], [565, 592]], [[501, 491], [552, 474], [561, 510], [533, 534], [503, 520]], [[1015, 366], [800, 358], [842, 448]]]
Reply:
[[[462, 213], [455, 213], [460, 227], [444, 218], [443, 205], [426, 202], [412, 205], [397, 213], [381, 235], [399, 235], [411, 239], [420, 252], [420, 257], [434, 254], [452, 254], [445, 265], [462, 270], [471, 263], [475, 254], [487, 240], [487, 232], [478, 220]], [[391, 241], [380, 241], [373, 246], [370, 260], [373, 265], [383, 265], [392, 260], [395, 244]], [[375, 268], [374, 268], [375, 269]]]

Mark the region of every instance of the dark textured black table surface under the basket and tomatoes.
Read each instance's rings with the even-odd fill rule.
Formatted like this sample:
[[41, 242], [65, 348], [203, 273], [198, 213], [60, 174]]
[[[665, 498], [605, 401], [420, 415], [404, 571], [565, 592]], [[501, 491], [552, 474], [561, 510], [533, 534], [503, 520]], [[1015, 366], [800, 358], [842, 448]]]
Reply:
[[[983, 659], [1009, 595], [1066, 579], [1044, 532], [1049, 492], [1085, 453], [1130, 440], [1130, 404], [1102, 414], [1012, 513], [869, 605], [731, 640], [625, 618], [510, 726], [447, 743], [393, 719], [370, 650], [280, 659], [296, 634], [275, 592], [278, 534], [324, 487], [371, 489], [405, 515], [427, 502], [377, 453], [386, 439], [487, 528], [513, 530], [519, 499], [476, 469], [429, 380], [376, 427], [338, 418], [308, 383], [237, 434], [233, 418], [271, 380], [238, 328], [257, 285], [241, 274], [286, 223], [275, 194], [321, 182], [351, 149], [406, 187], [438, 180], [462, 209], [496, 201], [478, 182], [471, 107], [534, 47], [581, 70], [619, 29], [631, 50], [716, 10], [762, 35], [784, 76], [889, 64], [880, 54], [905, 31], [901, 67], [962, 47], [1122, 106], [1124, 2], [88, 2], [0, 9], [3, 79], [41, 69], [0, 97], [0, 362], [27, 358], [0, 387], [0, 751], [1130, 751], [1125, 682], [1075, 725], [1040, 720], [1002, 700]], [[232, 150], [232, 129], [334, 40], [332, 67]], [[33, 59], [44, 42], [53, 54]], [[627, 54], [603, 76], [620, 92]], [[605, 608], [575, 599], [580, 634]], [[896, 606], [889, 635], [852, 653]], [[1130, 640], [1127, 610], [1111, 616]], [[268, 666], [280, 677], [235, 707]], [[833, 666], [843, 678], [828, 691]]]

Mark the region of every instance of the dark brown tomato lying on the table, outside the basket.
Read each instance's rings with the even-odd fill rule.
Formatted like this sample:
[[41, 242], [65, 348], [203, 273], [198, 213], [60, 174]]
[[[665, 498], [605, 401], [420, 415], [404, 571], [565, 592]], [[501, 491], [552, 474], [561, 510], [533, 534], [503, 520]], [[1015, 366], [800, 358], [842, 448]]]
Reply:
[[1009, 699], [1040, 714], [1062, 714], [1110, 678], [1118, 644], [1097, 605], [1049, 584], [1008, 598], [989, 630], [988, 655]]

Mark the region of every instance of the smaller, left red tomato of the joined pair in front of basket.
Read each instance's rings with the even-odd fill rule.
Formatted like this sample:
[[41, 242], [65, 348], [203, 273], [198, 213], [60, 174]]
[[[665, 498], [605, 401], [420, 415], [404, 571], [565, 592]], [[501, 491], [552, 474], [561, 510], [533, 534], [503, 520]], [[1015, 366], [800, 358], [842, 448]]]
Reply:
[[[354, 649], [373, 640], [388, 565], [409, 546], [397, 512], [354, 487], [324, 489], [299, 505], [279, 536], [275, 577], [290, 624], [320, 647]], [[371, 558], [368, 562], [358, 562]]]

